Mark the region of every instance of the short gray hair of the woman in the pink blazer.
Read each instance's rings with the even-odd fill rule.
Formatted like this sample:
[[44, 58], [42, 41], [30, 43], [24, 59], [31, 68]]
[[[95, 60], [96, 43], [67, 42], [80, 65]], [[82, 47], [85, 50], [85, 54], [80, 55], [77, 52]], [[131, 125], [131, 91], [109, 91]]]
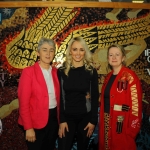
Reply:
[[48, 43], [49, 45], [51, 45], [54, 48], [54, 50], [56, 49], [56, 44], [52, 39], [42, 37], [38, 43], [38, 47], [37, 47], [38, 52], [40, 51], [40, 48], [44, 43]]

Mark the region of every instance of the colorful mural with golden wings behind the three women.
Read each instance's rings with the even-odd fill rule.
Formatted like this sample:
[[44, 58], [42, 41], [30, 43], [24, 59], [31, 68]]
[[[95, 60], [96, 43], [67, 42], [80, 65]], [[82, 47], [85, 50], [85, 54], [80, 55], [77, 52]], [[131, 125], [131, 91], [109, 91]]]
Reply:
[[[17, 85], [22, 69], [37, 60], [35, 51], [42, 36], [57, 44], [54, 62], [63, 62], [70, 39], [82, 36], [93, 53], [100, 91], [107, 73], [107, 47], [112, 43], [125, 47], [127, 66], [137, 73], [143, 88], [143, 122], [137, 149], [149, 150], [150, 10], [90, 7], [0, 8], [0, 149], [27, 149], [17, 125]], [[97, 149], [97, 133], [98, 127], [89, 144], [91, 150]]]

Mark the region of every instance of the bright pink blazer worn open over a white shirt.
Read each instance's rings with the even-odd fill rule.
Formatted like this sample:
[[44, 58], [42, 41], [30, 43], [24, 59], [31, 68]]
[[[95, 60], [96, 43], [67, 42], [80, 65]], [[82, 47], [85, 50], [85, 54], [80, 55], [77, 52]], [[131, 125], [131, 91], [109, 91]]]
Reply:
[[[59, 115], [60, 87], [57, 69], [54, 67], [52, 67], [52, 77], [57, 100], [57, 114]], [[46, 82], [38, 62], [22, 71], [18, 86], [18, 99], [18, 123], [25, 130], [45, 127], [49, 116], [49, 97]]]

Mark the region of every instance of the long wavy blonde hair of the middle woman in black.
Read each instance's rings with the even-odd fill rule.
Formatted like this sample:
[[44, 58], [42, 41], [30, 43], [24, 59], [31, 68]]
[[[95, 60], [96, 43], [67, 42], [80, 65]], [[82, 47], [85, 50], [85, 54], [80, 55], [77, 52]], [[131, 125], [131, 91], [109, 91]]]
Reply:
[[74, 37], [70, 40], [67, 51], [66, 51], [66, 61], [64, 63], [64, 67], [65, 67], [64, 72], [67, 76], [68, 76], [68, 72], [69, 72], [70, 68], [72, 67], [72, 56], [70, 54], [70, 51], [71, 51], [71, 47], [75, 41], [80, 42], [85, 50], [85, 56], [84, 56], [84, 60], [83, 60], [85, 69], [92, 71], [92, 68], [93, 68], [92, 54], [91, 54], [85, 40], [82, 37]]

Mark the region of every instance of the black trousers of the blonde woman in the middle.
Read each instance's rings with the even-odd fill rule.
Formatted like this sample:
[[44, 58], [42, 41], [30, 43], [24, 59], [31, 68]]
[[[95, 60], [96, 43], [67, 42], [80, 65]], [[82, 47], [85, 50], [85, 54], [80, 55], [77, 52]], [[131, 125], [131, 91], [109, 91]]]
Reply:
[[87, 130], [84, 128], [89, 123], [90, 113], [85, 116], [79, 116], [77, 118], [67, 119], [69, 132], [65, 132], [65, 137], [58, 138], [58, 150], [71, 150], [76, 136], [77, 149], [87, 150], [90, 138], [87, 137]]

